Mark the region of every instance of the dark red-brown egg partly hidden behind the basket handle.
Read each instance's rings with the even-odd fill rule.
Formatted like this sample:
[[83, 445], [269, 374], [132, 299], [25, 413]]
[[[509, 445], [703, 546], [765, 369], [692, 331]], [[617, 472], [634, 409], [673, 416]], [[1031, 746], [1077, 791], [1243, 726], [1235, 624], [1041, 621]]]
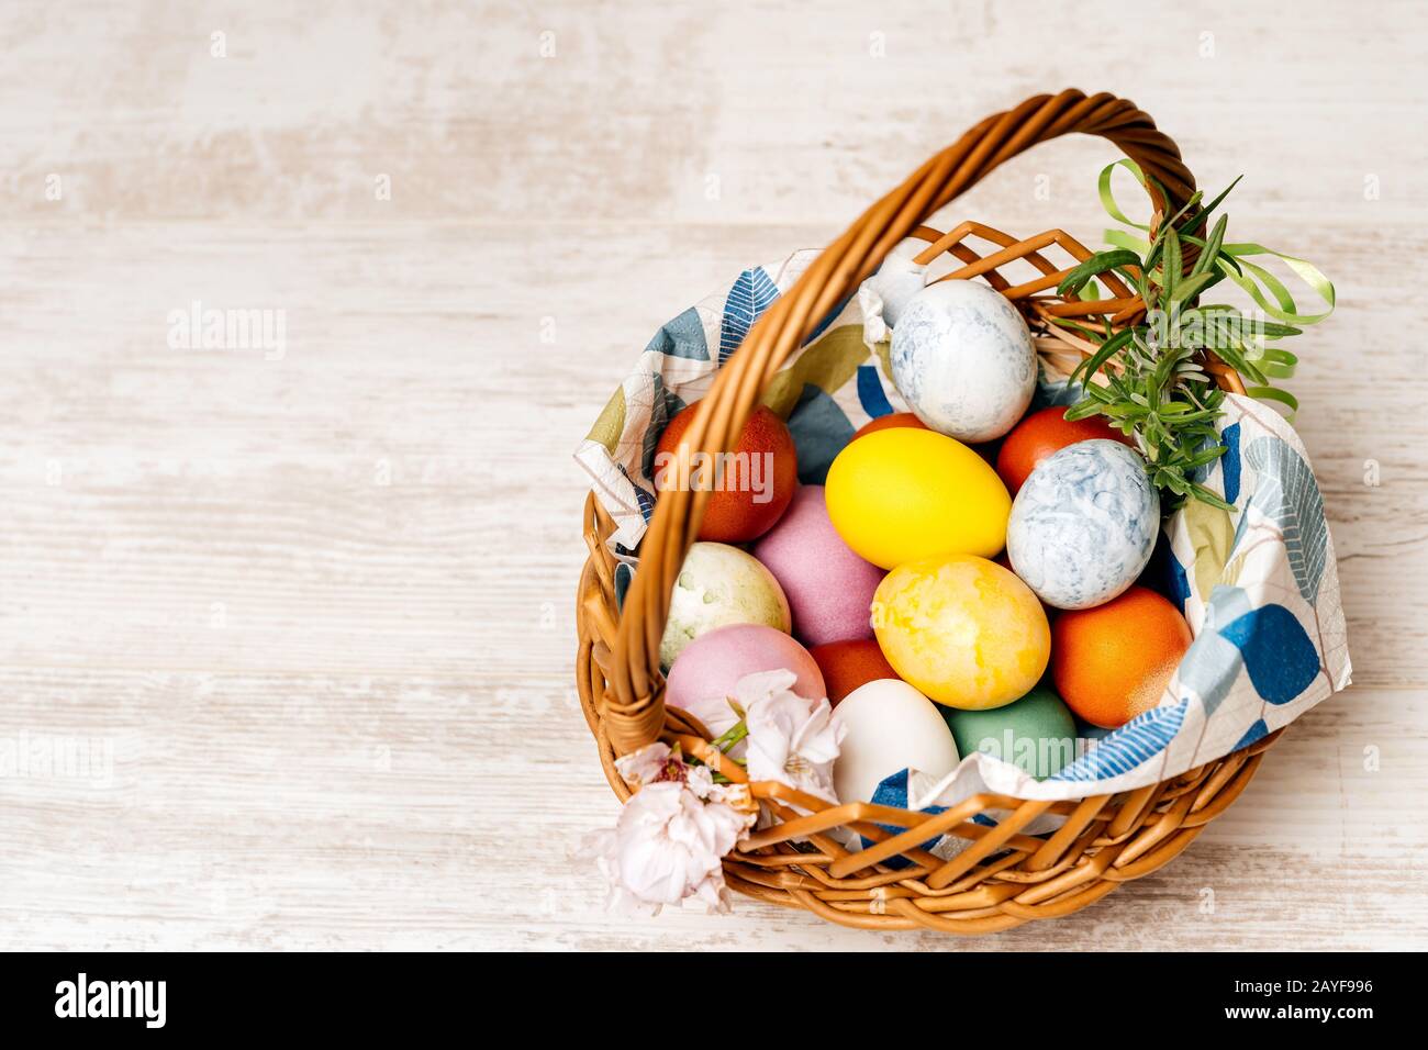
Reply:
[[738, 444], [724, 459], [691, 454], [681, 444], [701, 401], [664, 427], [654, 450], [655, 491], [690, 486], [711, 489], [700, 540], [747, 543], [774, 527], [798, 487], [798, 451], [778, 416], [760, 406], [744, 424]]

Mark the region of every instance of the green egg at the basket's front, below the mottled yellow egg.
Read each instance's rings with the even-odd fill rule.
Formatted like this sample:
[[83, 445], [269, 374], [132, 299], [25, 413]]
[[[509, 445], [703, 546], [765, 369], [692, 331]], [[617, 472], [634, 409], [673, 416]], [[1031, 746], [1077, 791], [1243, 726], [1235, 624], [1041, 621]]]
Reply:
[[1037, 686], [1005, 707], [962, 711], [942, 707], [958, 754], [987, 751], [1022, 773], [1045, 780], [1075, 760], [1075, 720], [1047, 686]]

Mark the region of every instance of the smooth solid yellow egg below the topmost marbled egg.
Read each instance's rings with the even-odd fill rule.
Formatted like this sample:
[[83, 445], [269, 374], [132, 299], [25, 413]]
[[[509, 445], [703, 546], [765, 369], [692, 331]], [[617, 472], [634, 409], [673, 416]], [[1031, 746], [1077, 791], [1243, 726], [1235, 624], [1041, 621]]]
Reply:
[[828, 467], [825, 494], [843, 541], [884, 569], [932, 554], [991, 557], [1007, 544], [1011, 497], [997, 471], [931, 430], [851, 441]]

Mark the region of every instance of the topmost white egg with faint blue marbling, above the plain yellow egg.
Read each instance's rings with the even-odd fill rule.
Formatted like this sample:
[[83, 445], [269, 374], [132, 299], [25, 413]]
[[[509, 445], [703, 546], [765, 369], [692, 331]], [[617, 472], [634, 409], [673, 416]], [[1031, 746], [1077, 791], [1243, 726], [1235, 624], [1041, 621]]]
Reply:
[[960, 441], [1005, 434], [1037, 387], [1027, 321], [981, 281], [938, 281], [912, 296], [892, 329], [891, 366], [917, 417]]

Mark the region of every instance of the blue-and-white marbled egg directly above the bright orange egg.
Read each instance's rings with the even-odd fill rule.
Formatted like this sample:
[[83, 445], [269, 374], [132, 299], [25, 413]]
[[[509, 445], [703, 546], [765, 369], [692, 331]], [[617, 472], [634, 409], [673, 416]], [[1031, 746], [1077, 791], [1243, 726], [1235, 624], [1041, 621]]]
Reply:
[[1048, 606], [1090, 609], [1135, 583], [1158, 530], [1160, 494], [1145, 461], [1120, 441], [1077, 441], [1021, 486], [1007, 557]]

